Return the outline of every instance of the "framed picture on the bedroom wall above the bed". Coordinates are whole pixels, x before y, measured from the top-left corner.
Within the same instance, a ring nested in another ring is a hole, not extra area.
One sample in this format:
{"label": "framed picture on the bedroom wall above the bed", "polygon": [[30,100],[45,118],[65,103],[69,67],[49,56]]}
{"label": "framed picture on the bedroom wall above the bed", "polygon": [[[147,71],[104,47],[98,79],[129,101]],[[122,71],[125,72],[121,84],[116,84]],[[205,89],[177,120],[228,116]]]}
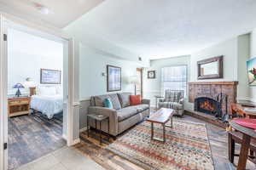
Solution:
{"label": "framed picture on the bedroom wall above the bed", "polygon": [[40,83],[41,84],[61,84],[61,71],[41,69]]}

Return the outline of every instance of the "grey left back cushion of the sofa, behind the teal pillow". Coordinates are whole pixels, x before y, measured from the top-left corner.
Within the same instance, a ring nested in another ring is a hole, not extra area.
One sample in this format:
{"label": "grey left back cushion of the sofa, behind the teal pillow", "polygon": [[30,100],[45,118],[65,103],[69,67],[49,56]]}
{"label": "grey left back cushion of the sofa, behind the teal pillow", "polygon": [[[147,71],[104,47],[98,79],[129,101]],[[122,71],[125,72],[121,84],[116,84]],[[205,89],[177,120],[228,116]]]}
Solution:
{"label": "grey left back cushion of the sofa, behind the teal pillow", "polygon": [[121,105],[120,105],[120,102],[119,102],[119,97],[118,97],[117,94],[106,94],[106,95],[95,96],[94,97],[95,105],[100,106],[100,107],[104,107],[103,101],[105,99],[111,99],[113,109],[115,109],[115,110],[121,109]]}

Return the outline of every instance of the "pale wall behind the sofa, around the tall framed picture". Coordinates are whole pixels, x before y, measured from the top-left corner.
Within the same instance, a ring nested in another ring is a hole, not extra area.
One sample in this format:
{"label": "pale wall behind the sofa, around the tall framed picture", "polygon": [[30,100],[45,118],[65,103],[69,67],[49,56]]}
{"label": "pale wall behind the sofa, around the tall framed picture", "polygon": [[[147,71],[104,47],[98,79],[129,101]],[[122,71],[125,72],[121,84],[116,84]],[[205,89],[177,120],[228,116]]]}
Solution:
{"label": "pale wall behind the sofa, around the tall framed picture", "polygon": [[[117,59],[103,54],[95,48],[90,48],[79,43],[79,100],[81,102],[79,128],[86,126],[87,108],[90,105],[90,97],[93,95],[108,94],[107,92],[107,65],[121,67],[122,90],[120,92],[134,92],[134,86],[127,82],[127,78],[136,75],[137,68],[141,67],[137,62],[125,59]],[[105,73],[105,76],[102,76]]]}

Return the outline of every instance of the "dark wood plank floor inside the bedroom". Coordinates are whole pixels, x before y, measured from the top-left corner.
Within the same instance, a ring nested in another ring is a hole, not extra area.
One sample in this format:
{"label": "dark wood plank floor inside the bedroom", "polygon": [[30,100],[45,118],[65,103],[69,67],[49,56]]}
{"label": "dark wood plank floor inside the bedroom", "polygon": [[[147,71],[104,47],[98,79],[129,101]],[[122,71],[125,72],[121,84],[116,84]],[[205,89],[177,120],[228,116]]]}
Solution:
{"label": "dark wood plank floor inside the bedroom", "polygon": [[66,144],[62,139],[62,114],[49,120],[40,113],[9,118],[9,169],[57,150]]}

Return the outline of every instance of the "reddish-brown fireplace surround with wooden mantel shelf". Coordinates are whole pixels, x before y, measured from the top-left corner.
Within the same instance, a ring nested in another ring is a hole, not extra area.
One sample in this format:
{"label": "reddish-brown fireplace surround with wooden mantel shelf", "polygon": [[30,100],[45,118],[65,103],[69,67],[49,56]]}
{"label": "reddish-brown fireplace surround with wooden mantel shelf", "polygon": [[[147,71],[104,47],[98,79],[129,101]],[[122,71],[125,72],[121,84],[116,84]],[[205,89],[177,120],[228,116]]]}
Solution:
{"label": "reddish-brown fireplace surround with wooden mantel shelf", "polygon": [[195,98],[215,98],[218,94],[228,95],[228,111],[230,104],[236,102],[236,88],[238,82],[189,82],[189,102],[194,103]]}

